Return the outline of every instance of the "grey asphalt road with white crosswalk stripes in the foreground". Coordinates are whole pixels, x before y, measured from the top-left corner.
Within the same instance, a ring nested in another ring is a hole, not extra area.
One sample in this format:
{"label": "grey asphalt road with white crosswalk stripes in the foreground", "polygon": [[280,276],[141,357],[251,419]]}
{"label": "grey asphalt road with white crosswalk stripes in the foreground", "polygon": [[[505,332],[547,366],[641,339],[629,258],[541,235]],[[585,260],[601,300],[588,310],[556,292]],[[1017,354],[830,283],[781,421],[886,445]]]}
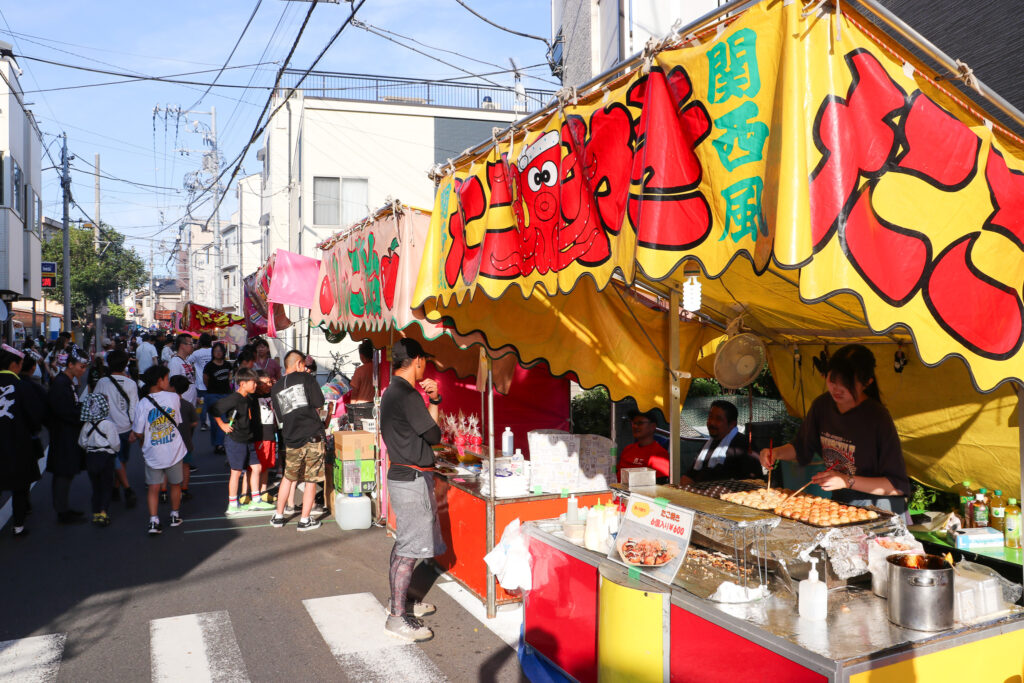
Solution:
{"label": "grey asphalt road with white crosswalk stripes in the foreground", "polygon": [[[33,657],[39,665],[46,656],[59,681],[174,679],[173,667],[164,665],[178,647],[183,654],[175,666],[189,660],[194,624],[205,625],[214,669],[231,680],[525,680],[515,651],[422,563],[414,591],[437,605],[425,618],[434,639],[402,645],[382,637],[384,611],[374,599],[387,604],[392,542],[384,530],[342,531],[330,517],[307,532],[296,530],[297,519],[280,529],[266,514],[228,519],[224,459],[213,455],[207,432],[197,432],[197,446],[200,469],[190,486],[195,499],[182,503],[185,523],[169,528],[169,506],[162,505],[160,537],[145,532],[137,446],[129,476],[139,505],[126,510],[114,503],[105,528],[58,525],[44,475],[32,492],[30,536],[14,539],[9,522],[0,533],[0,681],[7,680],[5,666],[12,680],[24,680]],[[88,512],[89,495],[83,473],[73,507]],[[181,618],[162,621],[169,617]],[[62,650],[26,653],[29,643],[50,642],[22,640],[39,636],[56,636],[51,640],[62,642]],[[211,647],[214,641],[220,644]]]}

